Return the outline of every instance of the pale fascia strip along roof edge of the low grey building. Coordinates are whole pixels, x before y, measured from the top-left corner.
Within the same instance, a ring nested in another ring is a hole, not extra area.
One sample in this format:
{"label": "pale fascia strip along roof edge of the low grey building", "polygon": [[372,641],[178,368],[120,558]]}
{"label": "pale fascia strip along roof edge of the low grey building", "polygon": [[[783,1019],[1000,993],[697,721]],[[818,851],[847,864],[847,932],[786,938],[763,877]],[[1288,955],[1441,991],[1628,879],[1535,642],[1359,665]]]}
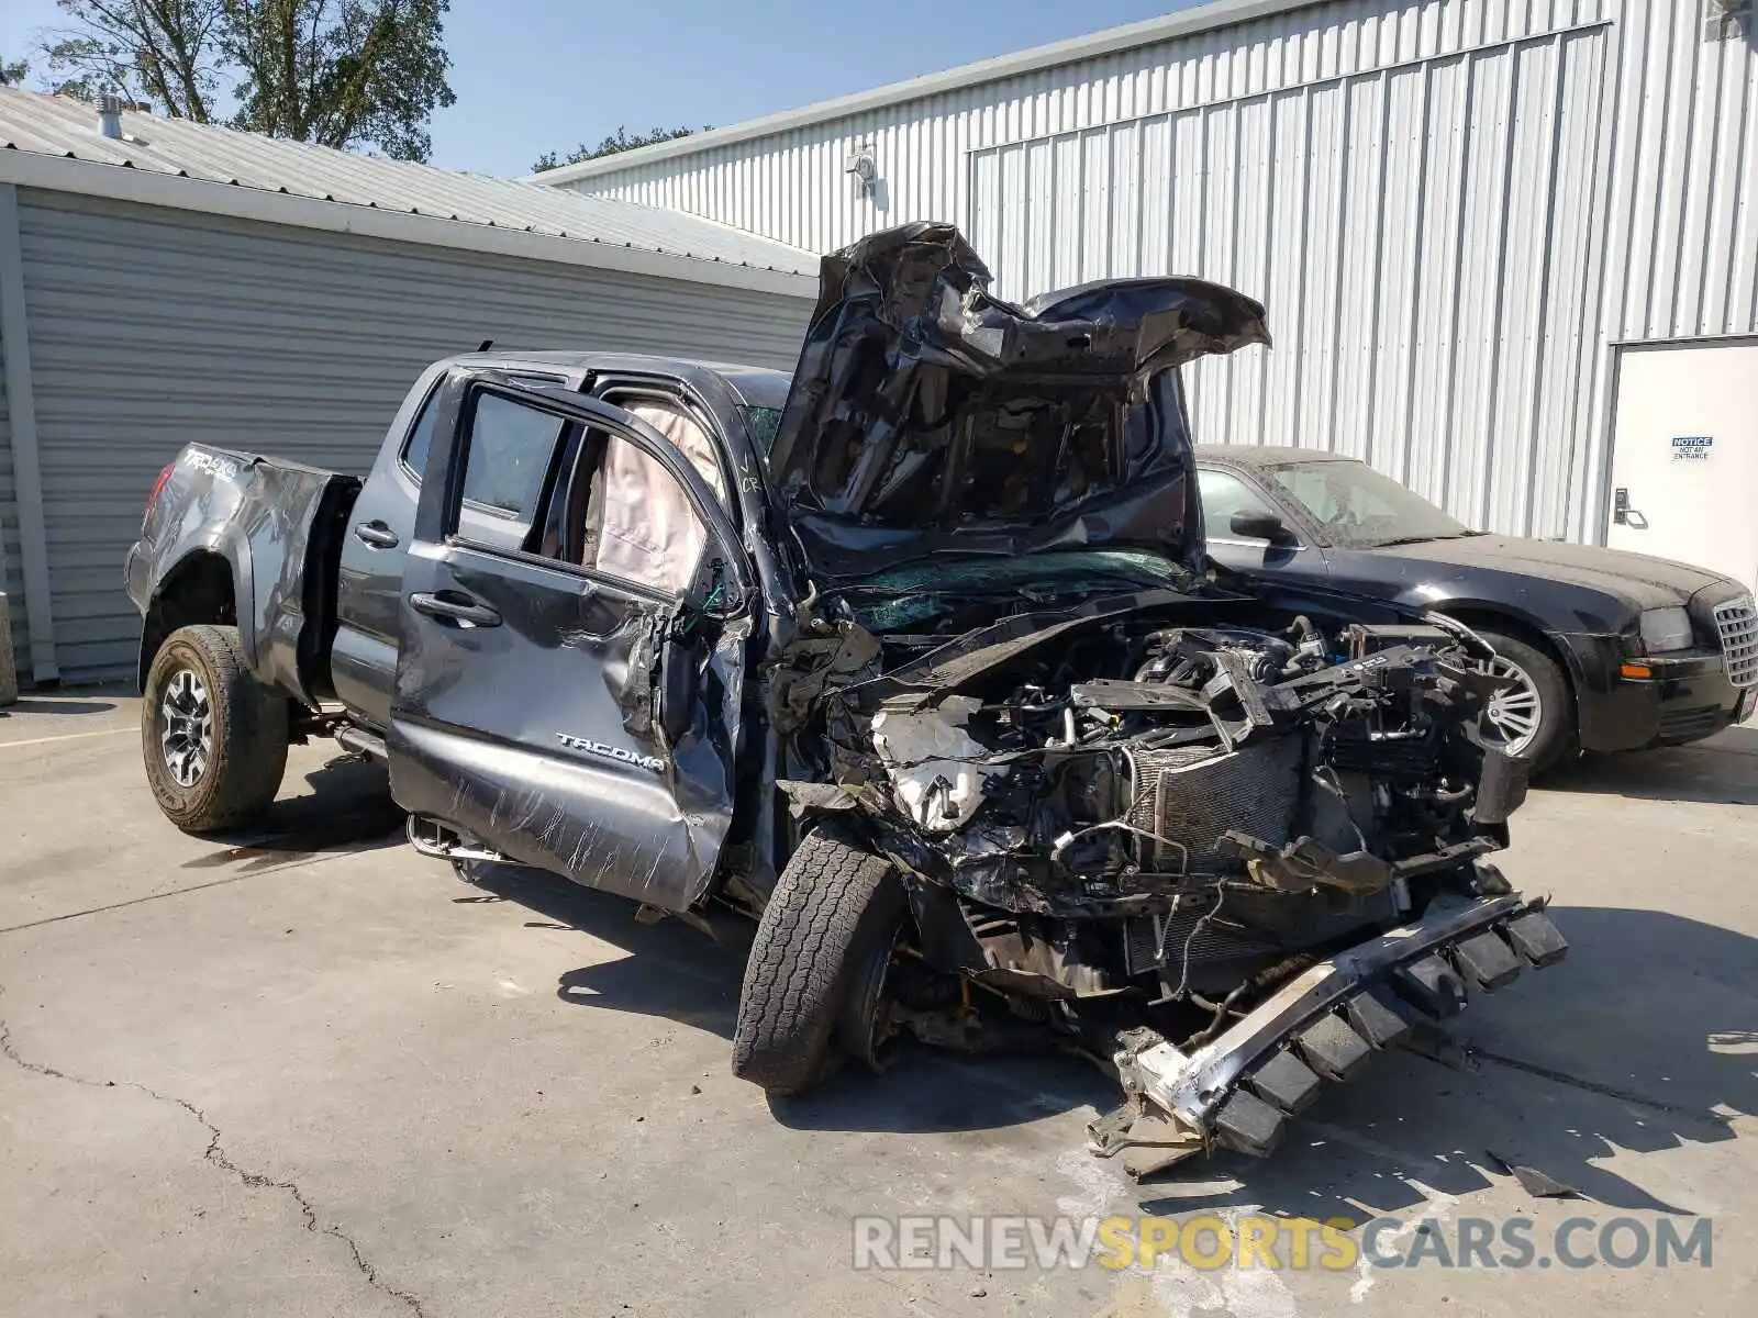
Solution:
{"label": "pale fascia strip along roof edge of the low grey building", "polygon": [[357,234],[434,248],[524,257],[557,265],[587,265],[786,297],[817,297],[817,279],[809,274],[679,257],[617,243],[534,234],[466,220],[441,220],[353,202],[320,200],[241,183],[209,183],[179,174],[160,174],[18,148],[0,149],[0,183],[107,197],[176,211],[225,214],[236,220],[258,220],[331,234]]}

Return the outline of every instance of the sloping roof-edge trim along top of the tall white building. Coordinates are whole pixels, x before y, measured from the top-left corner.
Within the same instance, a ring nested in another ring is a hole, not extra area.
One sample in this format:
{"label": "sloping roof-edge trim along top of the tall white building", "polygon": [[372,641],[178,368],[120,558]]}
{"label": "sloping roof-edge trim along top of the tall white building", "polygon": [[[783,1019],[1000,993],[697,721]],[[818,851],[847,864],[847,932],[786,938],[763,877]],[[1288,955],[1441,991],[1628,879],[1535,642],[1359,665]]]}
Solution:
{"label": "sloping roof-edge trim along top of the tall white building", "polygon": [[1000,54],[993,60],[977,60],[976,63],[958,65],[956,69],[946,69],[939,74],[925,74],[923,77],[912,77],[904,83],[888,83],[886,86],[872,88],[870,91],[856,91],[847,97],[835,97],[833,100],[819,100],[812,105],[802,105],[800,109],[765,114],[756,119],[745,119],[744,123],[731,123],[724,128],[708,128],[700,134],[691,134],[689,137],[677,137],[668,142],[656,142],[633,151],[619,151],[610,156],[598,156],[596,160],[582,160],[578,165],[545,169],[538,174],[522,176],[522,181],[541,183],[552,188],[564,186],[578,179],[599,177],[603,174],[615,174],[626,169],[640,169],[642,165],[654,165],[661,160],[672,160],[675,156],[712,151],[717,146],[747,142],[756,137],[772,137],[791,128],[805,128],[814,123],[842,119],[865,111],[881,109],[884,105],[897,105],[905,100],[921,100],[942,91],[956,91],[981,83],[997,83],[1006,77],[1032,74],[1039,69],[1079,63],[1081,60],[1092,60],[1099,54],[1111,54],[1113,51],[1134,49],[1137,46],[1153,46],[1178,37],[1192,37],[1199,32],[1211,32],[1236,23],[1250,23],[1252,19],[1283,14],[1294,9],[1310,9],[1318,4],[1324,4],[1324,0],[1211,0],[1211,4],[1197,5],[1195,9],[1181,9],[1176,14],[1162,14],[1160,18],[1150,18],[1139,23],[1125,23],[1123,26],[1106,28],[1104,32],[1093,32],[1086,37],[1071,37],[1069,40],[1051,42],[1048,46],[1034,46],[1028,51]]}

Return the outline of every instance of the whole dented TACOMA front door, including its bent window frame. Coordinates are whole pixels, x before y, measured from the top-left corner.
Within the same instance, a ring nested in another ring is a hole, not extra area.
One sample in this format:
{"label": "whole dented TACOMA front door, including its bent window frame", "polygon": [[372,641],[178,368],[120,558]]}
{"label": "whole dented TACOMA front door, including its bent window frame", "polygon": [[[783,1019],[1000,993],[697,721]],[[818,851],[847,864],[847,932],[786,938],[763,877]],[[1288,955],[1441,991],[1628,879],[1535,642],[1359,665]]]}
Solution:
{"label": "whole dented TACOMA front door, including its bent window frame", "polygon": [[[721,571],[707,576],[728,597],[747,592],[747,566],[726,548],[737,541],[700,476],[617,408],[457,373],[443,448],[459,446],[464,395],[482,383],[650,453],[708,525]],[[587,448],[564,443],[557,462]],[[601,571],[448,534],[454,460],[429,457],[404,568],[392,794],[515,861],[687,909],[731,824],[747,617],[708,619]],[[666,708],[666,692],[684,708]]]}

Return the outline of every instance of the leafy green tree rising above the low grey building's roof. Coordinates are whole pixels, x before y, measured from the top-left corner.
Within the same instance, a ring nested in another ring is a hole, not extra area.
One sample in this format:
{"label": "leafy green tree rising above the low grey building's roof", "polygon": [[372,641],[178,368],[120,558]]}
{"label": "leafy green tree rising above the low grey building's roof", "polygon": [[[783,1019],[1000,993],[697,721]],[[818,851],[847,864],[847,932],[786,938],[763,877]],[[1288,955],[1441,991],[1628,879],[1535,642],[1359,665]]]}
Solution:
{"label": "leafy green tree rising above the low grey building's roof", "polygon": [[199,123],[427,160],[450,0],[56,0],[63,91]]}

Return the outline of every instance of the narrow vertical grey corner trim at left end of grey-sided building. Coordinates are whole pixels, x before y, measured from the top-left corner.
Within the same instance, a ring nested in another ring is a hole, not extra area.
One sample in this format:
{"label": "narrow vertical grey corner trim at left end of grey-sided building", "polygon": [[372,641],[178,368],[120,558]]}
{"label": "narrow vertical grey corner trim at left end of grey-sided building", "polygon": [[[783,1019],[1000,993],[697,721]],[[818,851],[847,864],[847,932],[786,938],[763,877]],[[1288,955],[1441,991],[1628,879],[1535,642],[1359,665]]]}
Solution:
{"label": "narrow vertical grey corner trim at left end of grey-sided building", "polygon": [[49,538],[42,520],[42,466],[37,460],[37,404],[30,383],[25,318],[25,253],[18,234],[18,188],[0,183],[0,353],[12,432],[12,487],[18,490],[19,568],[30,622],[30,673],[39,685],[60,682],[54,617],[49,610]]}

